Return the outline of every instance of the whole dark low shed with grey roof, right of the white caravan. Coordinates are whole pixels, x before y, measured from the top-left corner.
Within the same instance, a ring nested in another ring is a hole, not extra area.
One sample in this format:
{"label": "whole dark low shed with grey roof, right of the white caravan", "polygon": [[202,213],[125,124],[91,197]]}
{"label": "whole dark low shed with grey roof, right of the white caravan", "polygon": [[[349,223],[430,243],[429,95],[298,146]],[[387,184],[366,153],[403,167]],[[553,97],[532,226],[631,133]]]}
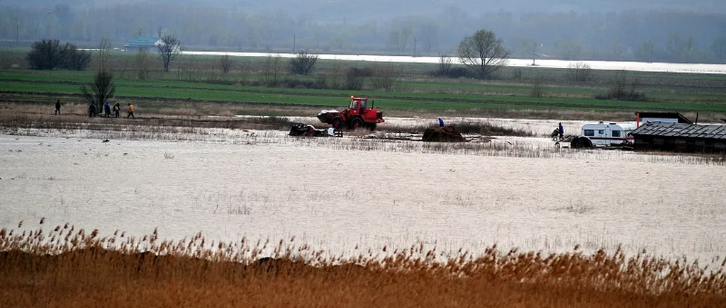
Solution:
{"label": "whole dark low shed with grey roof, right of the white caravan", "polygon": [[726,125],[650,122],[630,135],[636,151],[726,152]]}

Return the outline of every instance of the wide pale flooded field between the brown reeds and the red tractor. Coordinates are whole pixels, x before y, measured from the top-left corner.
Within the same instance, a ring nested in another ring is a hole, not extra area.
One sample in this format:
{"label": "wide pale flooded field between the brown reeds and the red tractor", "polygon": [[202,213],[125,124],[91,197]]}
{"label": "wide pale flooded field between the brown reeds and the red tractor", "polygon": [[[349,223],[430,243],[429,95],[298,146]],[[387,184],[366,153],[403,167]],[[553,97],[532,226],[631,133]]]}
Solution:
{"label": "wide pale flooded field between the brown reeds and the red tractor", "polygon": [[295,237],[328,254],[579,244],[710,262],[726,251],[725,166],[553,149],[545,138],[432,145],[280,131],[22,130],[0,135],[0,165],[1,228],[38,228],[45,217],[47,228],[70,222],[102,234]]}

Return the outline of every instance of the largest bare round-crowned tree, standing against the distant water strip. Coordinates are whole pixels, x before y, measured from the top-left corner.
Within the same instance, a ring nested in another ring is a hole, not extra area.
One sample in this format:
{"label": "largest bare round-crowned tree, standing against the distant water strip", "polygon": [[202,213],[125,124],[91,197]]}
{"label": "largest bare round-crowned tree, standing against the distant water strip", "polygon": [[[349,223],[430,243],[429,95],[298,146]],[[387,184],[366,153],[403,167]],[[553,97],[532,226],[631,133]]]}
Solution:
{"label": "largest bare round-crowned tree, standing against the distant water strip", "polygon": [[473,36],[465,37],[459,43],[457,53],[461,62],[482,79],[507,65],[509,56],[502,40],[487,30],[478,30]]}

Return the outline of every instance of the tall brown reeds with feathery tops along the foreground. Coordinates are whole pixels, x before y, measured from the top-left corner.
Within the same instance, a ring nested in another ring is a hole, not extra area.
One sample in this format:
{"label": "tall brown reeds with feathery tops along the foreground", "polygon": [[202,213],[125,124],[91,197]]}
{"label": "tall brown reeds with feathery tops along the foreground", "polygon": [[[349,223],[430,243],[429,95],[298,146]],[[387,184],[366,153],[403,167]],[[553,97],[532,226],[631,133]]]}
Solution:
{"label": "tall brown reeds with feathery tops along the foreground", "polygon": [[[42,223],[42,220],[41,220]],[[295,239],[0,230],[3,307],[723,307],[726,275],[620,250],[422,246],[325,257]],[[724,264],[721,265],[723,267]]]}

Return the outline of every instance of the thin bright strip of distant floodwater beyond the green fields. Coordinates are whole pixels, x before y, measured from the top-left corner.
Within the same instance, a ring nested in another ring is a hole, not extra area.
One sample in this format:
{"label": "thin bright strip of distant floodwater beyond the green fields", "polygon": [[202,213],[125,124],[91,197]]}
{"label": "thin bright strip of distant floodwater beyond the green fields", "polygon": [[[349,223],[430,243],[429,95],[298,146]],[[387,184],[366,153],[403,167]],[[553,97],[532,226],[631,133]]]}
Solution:
{"label": "thin bright strip of distant floodwater beyond the green fields", "polygon": [[[224,55],[231,57],[282,57],[292,58],[295,54],[261,53],[261,52],[221,52],[221,51],[184,51],[184,54]],[[364,54],[319,54],[319,59],[346,60],[364,62],[401,62],[401,63],[439,63],[439,57],[411,56],[378,56]],[[452,62],[460,63],[457,57]],[[632,61],[571,61],[558,59],[537,59],[537,67],[567,68],[574,63],[585,63],[594,70],[635,70],[641,72],[685,72],[698,74],[726,74],[726,64],[707,63],[667,63],[667,62],[632,62]],[[532,59],[509,59],[508,66],[529,67]]]}

